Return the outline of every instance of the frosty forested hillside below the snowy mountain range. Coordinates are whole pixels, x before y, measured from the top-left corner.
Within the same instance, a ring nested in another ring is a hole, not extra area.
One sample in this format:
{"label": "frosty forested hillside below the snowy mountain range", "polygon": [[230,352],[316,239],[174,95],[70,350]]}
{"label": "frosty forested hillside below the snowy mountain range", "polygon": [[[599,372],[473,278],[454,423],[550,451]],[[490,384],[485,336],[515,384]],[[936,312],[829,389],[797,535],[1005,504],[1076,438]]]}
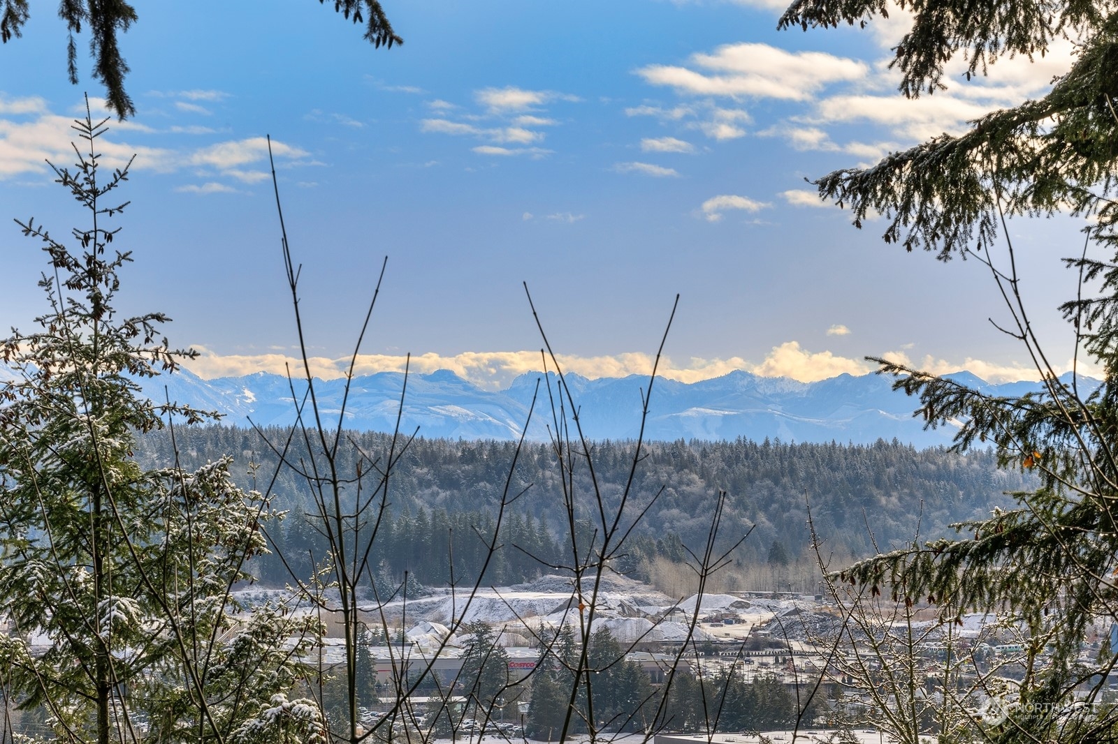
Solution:
{"label": "frosty forested hillside below the snowy mountain range", "polygon": [[[269,429],[273,442],[287,438],[284,429]],[[186,465],[237,455],[235,473],[246,485],[265,489],[275,474],[276,457],[260,436],[236,427],[181,427],[176,431],[180,458]],[[390,437],[351,432],[344,467],[356,468],[356,447],[385,461]],[[141,458],[171,461],[168,432],[141,438]],[[398,579],[405,570],[420,583],[449,580],[446,560],[453,549],[458,579],[468,580],[483,560],[479,532],[492,534],[495,508],[513,461],[515,445],[508,441],[451,441],[416,439],[408,445],[392,471],[388,518],[378,534],[375,565]],[[300,442],[293,442],[292,460],[300,459]],[[607,508],[615,505],[632,465],[629,442],[595,445],[595,470],[604,484]],[[249,464],[255,462],[255,481]],[[922,537],[945,534],[953,522],[988,516],[995,505],[1007,506],[1005,492],[1026,485],[1020,473],[996,467],[988,451],[966,455],[942,448],[918,450],[879,440],[873,445],[786,443],[745,439],[724,442],[653,442],[641,462],[636,499],[626,511],[635,518],[650,500],[641,525],[634,531],[618,570],[647,579],[652,562],[686,559],[683,545],[697,546],[705,538],[710,514],[719,490],[729,495],[722,522],[724,544],[737,541],[756,525],[736,554],[738,565],[795,561],[807,546],[807,503],[827,550],[839,560],[868,555],[871,536],[884,549],[909,542],[920,530]],[[589,474],[576,471],[579,531],[594,533]],[[559,468],[548,445],[525,445],[512,477],[512,493],[524,490],[506,515],[502,542],[505,549],[486,574],[489,583],[512,583],[542,571],[539,561],[570,564],[565,553],[569,540],[562,509]],[[275,533],[293,565],[307,570],[307,549],[316,544],[313,519],[303,515],[310,504],[306,484],[284,469],[272,486],[274,503],[291,509]],[[659,496],[657,496],[659,494]],[[476,528],[476,531],[475,531]],[[584,542],[585,544],[585,542]],[[521,550],[512,549],[518,546]],[[323,554],[321,550],[316,554]],[[529,555],[531,554],[531,555]],[[265,579],[282,580],[283,566],[265,562]]]}

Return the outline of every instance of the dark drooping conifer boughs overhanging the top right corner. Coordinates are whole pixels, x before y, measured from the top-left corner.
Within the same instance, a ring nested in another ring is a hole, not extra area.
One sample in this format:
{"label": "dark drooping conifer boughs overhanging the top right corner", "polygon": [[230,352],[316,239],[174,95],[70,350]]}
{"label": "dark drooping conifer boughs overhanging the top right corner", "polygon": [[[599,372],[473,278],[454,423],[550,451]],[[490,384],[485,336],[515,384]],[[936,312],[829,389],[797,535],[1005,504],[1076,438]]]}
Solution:
{"label": "dark drooping conifer boughs overhanging the top right corner", "polygon": [[[884,0],[796,0],[780,28],[865,26],[884,18]],[[1077,45],[1076,61],[1036,101],[993,112],[966,133],[941,134],[871,168],[834,171],[819,195],[847,207],[854,225],[872,214],[888,221],[887,242],[940,258],[988,248],[1001,213],[1093,216],[1093,236],[1118,223],[1118,12],[1095,1],[899,0],[912,26],[894,47],[901,92],[911,98],[945,87],[958,57],[968,78],[998,58],[1043,57],[1054,41]],[[963,85],[963,82],[958,82]]]}

